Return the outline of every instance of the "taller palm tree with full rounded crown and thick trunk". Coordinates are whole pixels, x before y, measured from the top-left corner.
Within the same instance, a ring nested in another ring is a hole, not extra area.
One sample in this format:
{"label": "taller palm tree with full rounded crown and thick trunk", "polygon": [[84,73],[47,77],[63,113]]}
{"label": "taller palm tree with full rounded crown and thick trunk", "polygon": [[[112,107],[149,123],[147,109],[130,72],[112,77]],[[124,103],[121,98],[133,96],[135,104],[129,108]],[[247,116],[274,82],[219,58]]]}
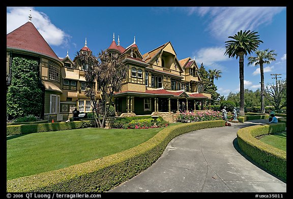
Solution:
{"label": "taller palm tree with full rounded crown and thick trunk", "polygon": [[226,51],[224,55],[229,57],[239,57],[239,79],[240,79],[240,115],[244,115],[244,55],[250,54],[255,51],[259,43],[263,43],[259,40],[259,36],[255,31],[240,30],[234,36],[229,36],[233,40],[226,41]]}

